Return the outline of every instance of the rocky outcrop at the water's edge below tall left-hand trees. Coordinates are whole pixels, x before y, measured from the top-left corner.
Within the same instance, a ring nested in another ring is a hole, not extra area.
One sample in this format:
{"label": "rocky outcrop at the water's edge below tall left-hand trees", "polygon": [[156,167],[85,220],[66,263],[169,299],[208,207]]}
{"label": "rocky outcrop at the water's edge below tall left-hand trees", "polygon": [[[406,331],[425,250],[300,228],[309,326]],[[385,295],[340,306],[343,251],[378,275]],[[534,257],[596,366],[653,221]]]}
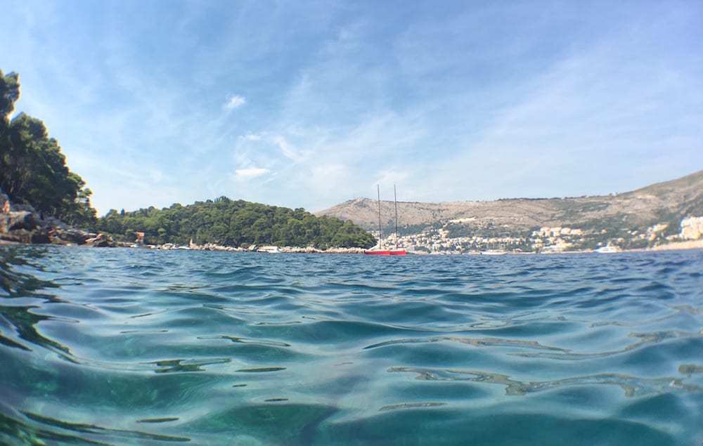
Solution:
{"label": "rocky outcrop at the water's edge below tall left-hand trees", "polygon": [[27,204],[12,204],[0,190],[0,242],[27,244],[77,244],[91,247],[114,247],[112,237],[71,228],[62,221],[41,218]]}

